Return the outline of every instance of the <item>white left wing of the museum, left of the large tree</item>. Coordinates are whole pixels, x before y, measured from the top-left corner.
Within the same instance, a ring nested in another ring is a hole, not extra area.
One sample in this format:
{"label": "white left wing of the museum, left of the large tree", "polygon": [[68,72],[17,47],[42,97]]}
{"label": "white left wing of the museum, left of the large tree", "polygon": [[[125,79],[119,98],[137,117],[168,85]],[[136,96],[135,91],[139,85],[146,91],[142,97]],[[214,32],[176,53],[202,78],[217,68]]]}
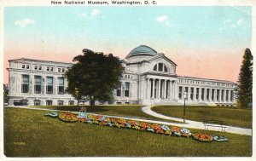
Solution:
{"label": "white left wing of the museum, left of the large tree", "polygon": [[27,100],[32,106],[73,105],[65,93],[64,72],[71,63],[46,60],[9,60],[9,105]]}

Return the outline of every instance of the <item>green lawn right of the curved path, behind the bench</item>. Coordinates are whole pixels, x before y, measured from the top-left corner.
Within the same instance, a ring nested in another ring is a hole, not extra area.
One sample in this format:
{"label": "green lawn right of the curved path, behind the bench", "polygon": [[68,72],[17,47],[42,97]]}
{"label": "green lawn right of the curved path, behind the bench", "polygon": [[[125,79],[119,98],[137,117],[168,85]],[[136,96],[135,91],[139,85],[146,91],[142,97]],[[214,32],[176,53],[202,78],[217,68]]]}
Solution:
{"label": "green lawn right of the curved path, behind the bench", "polygon": [[[154,106],[154,112],[183,118],[183,106]],[[218,106],[186,106],[186,118],[195,121],[221,120],[224,124],[252,128],[252,110]]]}

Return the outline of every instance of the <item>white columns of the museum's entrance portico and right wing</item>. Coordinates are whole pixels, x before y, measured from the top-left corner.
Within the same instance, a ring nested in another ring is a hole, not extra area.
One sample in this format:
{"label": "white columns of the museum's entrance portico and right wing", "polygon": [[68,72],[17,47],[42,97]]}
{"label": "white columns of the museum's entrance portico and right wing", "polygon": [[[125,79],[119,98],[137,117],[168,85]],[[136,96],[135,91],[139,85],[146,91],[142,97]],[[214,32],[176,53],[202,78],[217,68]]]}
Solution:
{"label": "white columns of the museum's entrance portico and right wing", "polygon": [[184,86],[177,84],[176,80],[165,78],[146,78],[146,99],[184,100],[198,102],[234,102],[234,89],[223,89],[200,86]]}

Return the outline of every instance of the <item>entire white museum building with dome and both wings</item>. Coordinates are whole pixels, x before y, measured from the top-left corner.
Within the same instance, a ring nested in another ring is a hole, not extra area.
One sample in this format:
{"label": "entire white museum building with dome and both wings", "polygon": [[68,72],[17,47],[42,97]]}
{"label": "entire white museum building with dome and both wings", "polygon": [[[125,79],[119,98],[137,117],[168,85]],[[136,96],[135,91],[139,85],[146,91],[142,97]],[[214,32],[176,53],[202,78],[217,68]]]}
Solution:
{"label": "entire white museum building with dome and both wings", "polygon": [[[177,65],[148,46],[132,49],[122,60],[125,73],[119,89],[113,91],[115,104],[232,105],[236,83],[217,79],[181,77]],[[73,105],[65,94],[63,74],[71,63],[18,59],[9,60],[9,104],[28,100],[29,105]]]}

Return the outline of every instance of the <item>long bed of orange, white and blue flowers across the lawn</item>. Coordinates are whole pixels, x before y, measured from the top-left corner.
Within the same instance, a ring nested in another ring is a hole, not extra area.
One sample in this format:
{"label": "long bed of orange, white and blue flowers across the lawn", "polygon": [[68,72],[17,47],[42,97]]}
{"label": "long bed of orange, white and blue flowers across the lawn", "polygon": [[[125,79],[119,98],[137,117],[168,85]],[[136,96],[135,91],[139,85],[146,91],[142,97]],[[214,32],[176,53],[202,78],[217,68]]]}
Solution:
{"label": "long bed of orange, white and blue flowers across the lawn", "polygon": [[189,129],[179,128],[177,126],[168,126],[166,124],[150,124],[146,122],[140,122],[124,118],[109,118],[102,115],[87,114],[85,112],[79,112],[74,114],[72,112],[61,112],[59,118],[65,122],[82,122],[89,124],[99,124],[102,126],[111,126],[118,128],[137,129],[141,131],[147,131],[155,134],[173,135],[178,137],[193,137],[196,141],[211,142],[211,141],[227,141],[227,138],[223,136],[214,136],[196,133],[192,134]]}

